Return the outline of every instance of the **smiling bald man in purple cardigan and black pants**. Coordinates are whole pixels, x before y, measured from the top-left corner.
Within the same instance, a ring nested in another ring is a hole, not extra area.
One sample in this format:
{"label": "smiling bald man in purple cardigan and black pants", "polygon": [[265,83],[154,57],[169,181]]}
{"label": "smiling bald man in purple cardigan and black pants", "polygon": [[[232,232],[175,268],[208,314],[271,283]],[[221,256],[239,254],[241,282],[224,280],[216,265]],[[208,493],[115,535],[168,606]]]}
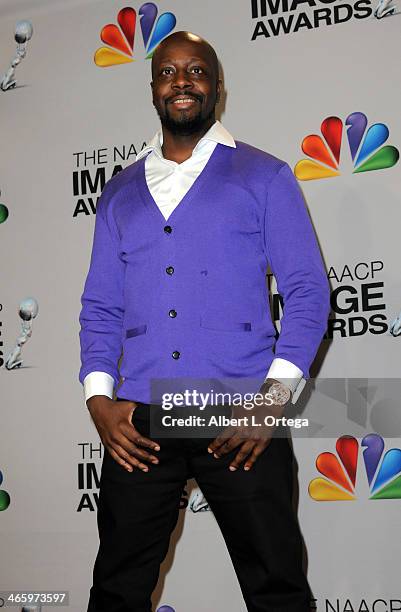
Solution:
{"label": "smiling bald man in purple cardigan and black pants", "polygon": [[[298,184],[286,162],[215,120],[221,86],[209,43],[165,38],[152,58],[161,130],[97,206],[80,314],[79,379],[105,448],[90,612],[151,611],[191,477],[247,610],[309,610],[288,440],[242,426],[198,439],[149,433],[156,378],[249,377],[281,415],[326,329],[328,281]],[[268,264],[284,300],[275,352]]]}

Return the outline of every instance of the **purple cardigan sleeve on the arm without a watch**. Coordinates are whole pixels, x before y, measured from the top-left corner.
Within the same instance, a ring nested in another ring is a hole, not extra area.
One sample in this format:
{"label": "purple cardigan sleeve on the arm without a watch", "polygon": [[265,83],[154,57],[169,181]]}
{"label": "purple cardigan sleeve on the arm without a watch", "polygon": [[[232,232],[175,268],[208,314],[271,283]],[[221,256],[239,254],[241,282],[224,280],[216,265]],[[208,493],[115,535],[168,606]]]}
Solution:
{"label": "purple cardigan sleeve on the arm without a watch", "polygon": [[125,264],[119,257],[119,235],[111,209],[109,181],[98,200],[89,271],[81,296],[79,380],[106,372],[119,382],[122,351]]}

